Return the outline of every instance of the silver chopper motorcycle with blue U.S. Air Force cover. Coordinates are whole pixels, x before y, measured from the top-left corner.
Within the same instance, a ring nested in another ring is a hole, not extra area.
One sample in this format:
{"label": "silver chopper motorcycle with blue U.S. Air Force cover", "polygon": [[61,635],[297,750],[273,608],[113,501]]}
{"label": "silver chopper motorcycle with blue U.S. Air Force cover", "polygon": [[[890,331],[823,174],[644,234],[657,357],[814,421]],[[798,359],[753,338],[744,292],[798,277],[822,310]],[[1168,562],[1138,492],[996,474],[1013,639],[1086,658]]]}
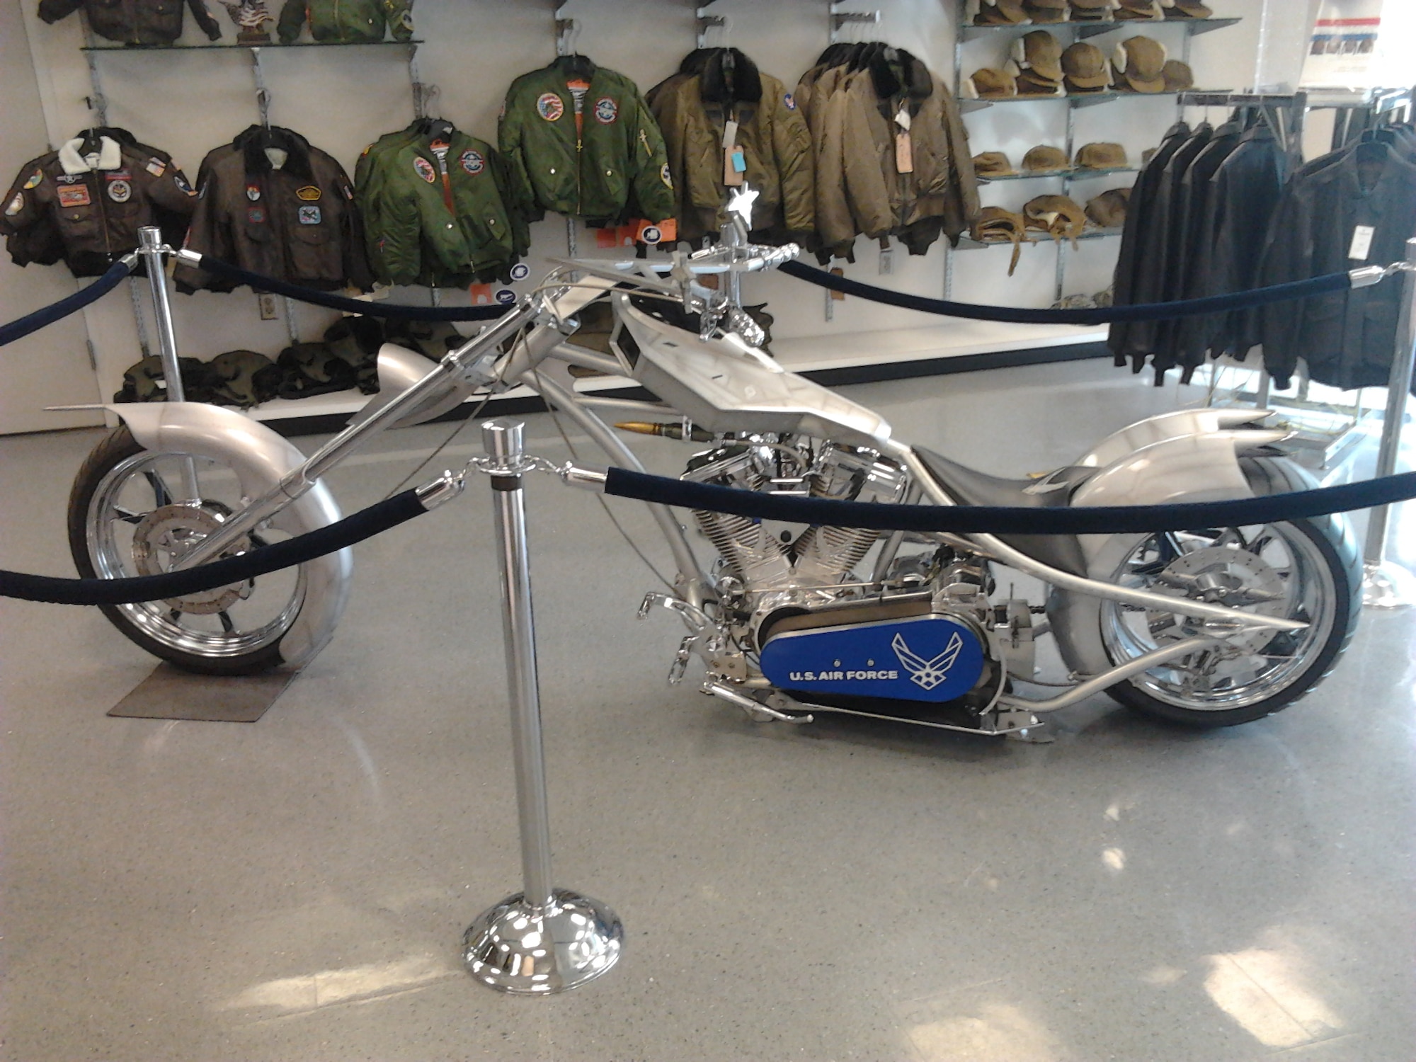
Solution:
{"label": "silver chopper motorcycle with blue U.S. Air Force cover", "polygon": [[[750,208],[750,204],[749,204]],[[792,497],[936,506],[1140,506],[1257,497],[1314,486],[1284,456],[1264,411],[1187,409],[1103,439],[1055,472],[1007,480],[896,439],[874,411],[784,371],[741,309],[748,272],[796,256],[752,246],[739,210],[725,242],[667,263],[564,261],[530,296],[429,368],[395,346],[381,389],[306,457],[259,422],[193,402],[106,406],[122,426],[79,470],[69,545],[84,576],[191,568],[340,518],[321,476],[378,432],[430,421],[477,394],[524,384],[612,463],[643,464],[606,421],[657,421],[700,440],[683,477]],[[178,258],[200,262],[181,251]],[[705,275],[726,280],[705,286]],[[576,343],[579,314],[607,303],[606,350]],[[572,368],[646,388],[657,401],[578,391]],[[640,423],[643,430],[646,425]],[[547,466],[545,462],[537,462]],[[528,466],[530,467],[530,466]],[[598,489],[603,472],[554,469]],[[429,501],[462,477],[421,489]],[[673,554],[673,590],[650,593],[687,634],[701,690],[755,719],[844,712],[1041,736],[1046,712],[1106,691],[1163,719],[1226,726],[1311,690],[1352,637],[1359,552],[1344,515],[1256,527],[1112,535],[902,534],[773,527],[722,513],[691,520],[716,556],[704,566],[674,510],[649,506]],[[1000,593],[1003,569],[1042,583]],[[112,623],[177,667],[251,674],[309,661],[333,636],[348,551],[187,598],[105,606]],[[1042,680],[1051,636],[1065,680]]]}

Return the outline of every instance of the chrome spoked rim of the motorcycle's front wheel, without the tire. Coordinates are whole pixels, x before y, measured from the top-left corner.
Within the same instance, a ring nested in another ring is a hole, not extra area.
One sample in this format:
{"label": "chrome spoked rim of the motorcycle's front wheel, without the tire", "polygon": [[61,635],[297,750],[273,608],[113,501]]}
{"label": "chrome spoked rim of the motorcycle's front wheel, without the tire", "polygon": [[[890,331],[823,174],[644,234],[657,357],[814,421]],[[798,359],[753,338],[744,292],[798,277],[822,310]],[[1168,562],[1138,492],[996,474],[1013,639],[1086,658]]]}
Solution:
{"label": "chrome spoked rim of the motorcycle's front wheel, without the tire", "polygon": [[[181,501],[185,462],[195,466],[200,507]],[[235,473],[211,459],[147,450],[133,455],[103,476],[89,501],[86,541],[93,571],[101,579],[167,571],[184,545],[200,541],[241,501]],[[160,528],[160,538],[153,528]],[[275,531],[251,535],[234,552],[279,537]],[[200,657],[239,657],[280,640],[304,603],[304,573],[295,568],[193,595],[190,600],[115,607],[167,649]]]}

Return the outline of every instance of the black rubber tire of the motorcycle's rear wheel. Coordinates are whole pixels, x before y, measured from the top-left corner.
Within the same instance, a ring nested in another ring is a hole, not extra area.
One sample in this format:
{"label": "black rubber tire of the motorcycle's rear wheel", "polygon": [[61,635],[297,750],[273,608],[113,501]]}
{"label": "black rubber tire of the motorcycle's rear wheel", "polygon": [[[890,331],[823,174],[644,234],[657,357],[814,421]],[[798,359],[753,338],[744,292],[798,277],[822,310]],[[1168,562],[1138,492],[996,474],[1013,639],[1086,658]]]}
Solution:
{"label": "black rubber tire of the motorcycle's rear wheel", "polygon": [[[1286,462],[1253,460],[1245,462],[1245,472],[1255,486],[1256,494],[1280,493],[1289,490],[1303,490],[1311,484],[1306,476]],[[1223,528],[1222,532],[1235,532],[1238,528]],[[1107,692],[1120,704],[1134,708],[1154,718],[1167,722],[1184,724],[1198,728],[1236,726],[1252,722],[1266,715],[1289,707],[1304,694],[1321,683],[1335,667],[1342,651],[1351,643],[1357,632],[1358,619],[1362,612],[1362,559],[1357,544],[1349,532],[1347,520],[1342,515],[1318,517],[1314,520],[1297,520],[1283,524],[1272,524],[1260,528],[1259,532],[1250,530],[1250,535],[1257,541],[1260,534],[1273,534],[1276,541],[1286,541],[1290,551],[1308,552],[1303,544],[1311,548],[1310,564],[1321,562],[1327,571],[1328,581],[1323,583],[1323,592],[1331,593],[1328,609],[1330,620],[1324,620],[1327,630],[1314,636],[1311,646],[1303,647],[1301,663],[1297,654],[1290,654],[1293,660],[1291,673],[1283,677],[1272,695],[1256,697],[1235,708],[1188,708],[1175,704],[1174,700],[1157,697],[1147,690],[1154,683],[1157,671],[1167,670],[1167,666],[1153,668],[1141,675],[1113,685]],[[1242,532],[1240,532],[1242,534]],[[1147,541],[1155,541],[1147,539]],[[1290,573],[1291,578],[1291,573]],[[1114,606],[1103,606],[1103,624],[1107,616],[1116,616]],[[1308,617],[1297,613],[1296,617]],[[1267,637],[1267,636],[1266,636]],[[1259,651],[1283,644],[1284,634],[1274,634],[1272,640]],[[1291,636],[1298,637],[1298,636]],[[1104,641],[1104,636],[1103,636]],[[1291,643],[1289,643],[1291,644]],[[1107,647],[1107,654],[1113,663],[1123,663],[1117,654]],[[1281,658],[1274,654],[1273,658]],[[1274,666],[1276,668],[1280,666]],[[1157,687],[1151,687],[1157,688]],[[1240,700],[1240,698],[1236,698]]]}

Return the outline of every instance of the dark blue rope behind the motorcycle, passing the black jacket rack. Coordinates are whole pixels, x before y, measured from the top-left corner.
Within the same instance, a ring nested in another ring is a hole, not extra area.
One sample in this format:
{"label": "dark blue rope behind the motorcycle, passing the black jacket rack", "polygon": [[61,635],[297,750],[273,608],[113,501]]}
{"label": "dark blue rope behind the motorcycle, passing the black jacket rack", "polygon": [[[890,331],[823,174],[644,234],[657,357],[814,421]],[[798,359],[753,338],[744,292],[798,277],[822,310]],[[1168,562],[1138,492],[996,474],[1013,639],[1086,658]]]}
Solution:
{"label": "dark blue rope behind the motorcycle, passing the black jacket rack", "polygon": [[1171,317],[1192,317],[1202,313],[1225,313],[1250,306],[1267,306],[1291,299],[1307,299],[1314,295],[1341,292],[1352,286],[1347,273],[1327,273],[1308,280],[1293,280],[1273,287],[1256,287],[1252,292],[1211,295],[1204,299],[1185,299],[1172,303],[1138,303],[1136,306],[1100,306],[1093,310],[1021,310],[1012,306],[977,306],[974,303],[953,303],[944,299],[926,299],[920,295],[905,295],[875,287],[860,280],[847,280],[824,269],[814,269],[801,262],[787,262],[780,266],[787,276],[830,287],[833,292],[854,295],[860,299],[899,306],[905,310],[937,313],[944,317],[967,317],[976,321],[1008,321],[1011,324],[1109,324],[1112,321],[1158,321]]}

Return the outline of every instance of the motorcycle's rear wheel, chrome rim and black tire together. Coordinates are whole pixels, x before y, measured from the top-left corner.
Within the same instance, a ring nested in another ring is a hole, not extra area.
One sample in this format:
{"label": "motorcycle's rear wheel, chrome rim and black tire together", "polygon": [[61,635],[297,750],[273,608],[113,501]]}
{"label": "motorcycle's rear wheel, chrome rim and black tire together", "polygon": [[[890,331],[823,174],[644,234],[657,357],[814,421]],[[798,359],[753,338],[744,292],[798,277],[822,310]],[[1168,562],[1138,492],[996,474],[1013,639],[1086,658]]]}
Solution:
{"label": "motorcycle's rear wheel, chrome rim and black tire together", "polygon": [[[1112,581],[1308,624],[1231,634],[1107,691],[1130,708],[1191,726],[1250,722],[1303,697],[1332,670],[1361,610],[1361,565],[1331,517],[1150,535]],[[1116,602],[1102,603],[1100,627],[1113,664],[1199,630],[1182,606]]]}

